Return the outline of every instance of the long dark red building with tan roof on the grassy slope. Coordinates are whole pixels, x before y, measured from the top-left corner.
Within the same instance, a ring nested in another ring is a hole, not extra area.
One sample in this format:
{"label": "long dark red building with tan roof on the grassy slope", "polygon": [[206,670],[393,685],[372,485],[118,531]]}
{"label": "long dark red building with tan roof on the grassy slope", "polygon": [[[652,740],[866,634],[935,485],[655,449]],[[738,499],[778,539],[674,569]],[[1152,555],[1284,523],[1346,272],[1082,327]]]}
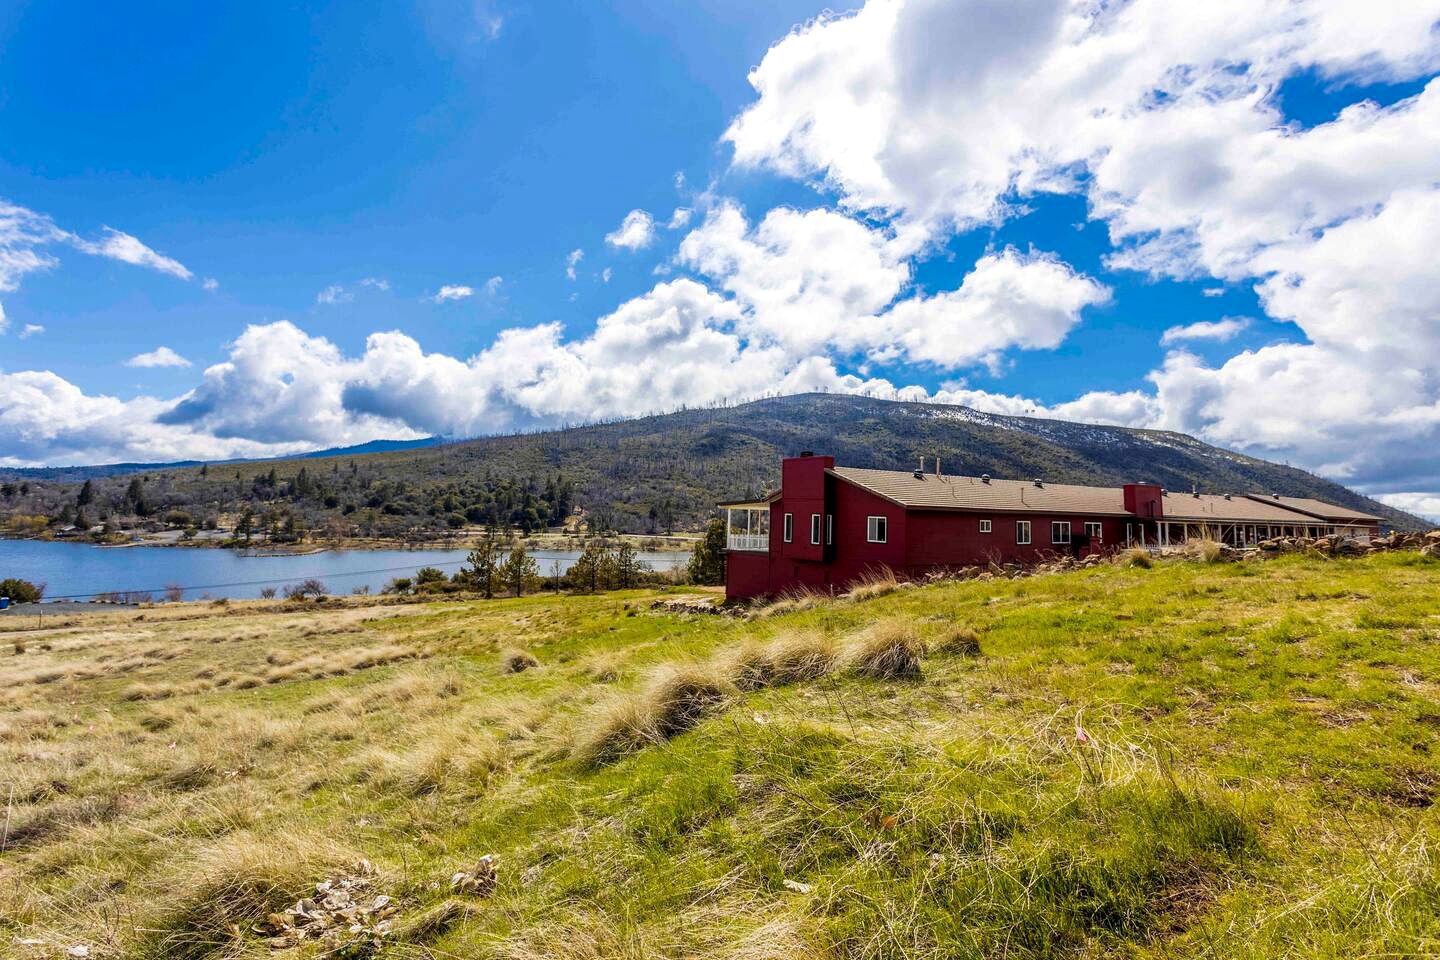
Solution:
{"label": "long dark red building with tan roof on the grassy slope", "polygon": [[780,489],[765,499],[720,507],[729,599],[844,590],[881,570],[914,577],[1191,537],[1231,545],[1331,533],[1364,540],[1380,528],[1378,517],[1312,499],[871,471],[812,453],[786,458]]}

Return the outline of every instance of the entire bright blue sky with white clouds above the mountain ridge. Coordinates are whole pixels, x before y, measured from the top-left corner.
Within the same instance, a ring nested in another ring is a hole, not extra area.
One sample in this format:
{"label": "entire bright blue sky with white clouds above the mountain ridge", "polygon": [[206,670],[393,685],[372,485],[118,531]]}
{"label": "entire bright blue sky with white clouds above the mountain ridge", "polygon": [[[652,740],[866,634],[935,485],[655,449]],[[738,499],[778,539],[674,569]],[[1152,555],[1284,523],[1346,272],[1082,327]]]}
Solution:
{"label": "entire bright blue sky with white clouds above the mountain ridge", "polygon": [[1430,276],[1333,266],[1431,226],[1440,13],[1224,6],[9,4],[0,462],[835,389],[1440,511]]}

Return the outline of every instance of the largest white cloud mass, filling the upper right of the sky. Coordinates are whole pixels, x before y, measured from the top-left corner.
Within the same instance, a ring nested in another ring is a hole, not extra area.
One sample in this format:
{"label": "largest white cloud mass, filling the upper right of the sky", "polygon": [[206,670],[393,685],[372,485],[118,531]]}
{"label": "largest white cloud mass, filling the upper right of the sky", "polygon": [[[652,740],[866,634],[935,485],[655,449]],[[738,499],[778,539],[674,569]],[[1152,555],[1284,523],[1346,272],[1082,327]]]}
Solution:
{"label": "largest white cloud mass, filling the upper right of the sky", "polygon": [[[1437,20],[1437,0],[871,0],[776,43],[726,138],[737,164],[822,181],[903,248],[1083,194],[1112,269],[1254,284],[1309,343],[1218,367],[1171,354],[1153,393],[1051,412],[1187,429],[1375,489],[1433,486],[1440,81],[1310,128],[1284,121],[1277,94],[1302,71],[1427,76]],[[1168,341],[1200,332],[1231,328]]]}

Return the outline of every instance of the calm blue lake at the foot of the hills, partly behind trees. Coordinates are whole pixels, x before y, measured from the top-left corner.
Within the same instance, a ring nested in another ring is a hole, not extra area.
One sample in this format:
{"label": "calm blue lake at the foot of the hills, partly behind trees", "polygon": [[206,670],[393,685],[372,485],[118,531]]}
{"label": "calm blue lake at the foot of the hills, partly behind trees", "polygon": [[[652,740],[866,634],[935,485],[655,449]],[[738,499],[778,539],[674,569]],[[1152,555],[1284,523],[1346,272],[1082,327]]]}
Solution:
{"label": "calm blue lake at the foot of the hills, partly behind trees", "polygon": [[[163,599],[170,584],[184,587],[186,600],[258,597],[265,587],[284,589],[315,577],[330,593],[370,587],[379,593],[395,577],[420,567],[455,573],[467,550],[325,550],[305,556],[248,556],[210,547],[96,547],[42,540],[0,540],[0,580],[20,577],[45,584],[45,599],[88,600],[98,593],[151,593]],[[530,553],[541,576],[570,569],[576,550]],[[683,567],[690,554],[639,553],[652,570]]]}

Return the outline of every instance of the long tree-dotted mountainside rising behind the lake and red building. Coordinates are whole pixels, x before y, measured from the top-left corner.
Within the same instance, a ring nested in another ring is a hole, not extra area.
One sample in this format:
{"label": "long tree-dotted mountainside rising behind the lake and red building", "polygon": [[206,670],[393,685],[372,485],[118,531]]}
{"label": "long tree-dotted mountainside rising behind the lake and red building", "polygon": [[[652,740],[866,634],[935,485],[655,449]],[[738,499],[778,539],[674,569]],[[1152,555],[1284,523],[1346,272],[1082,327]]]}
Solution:
{"label": "long tree-dotted mountainside rising behind the lake and red building", "polygon": [[415,540],[477,525],[553,527],[579,507],[592,531],[655,534],[696,530],[717,501],[773,488],[780,458],[802,449],[848,466],[910,469],[919,456],[939,456],[952,474],[1315,497],[1421,525],[1339,484],[1179,433],[831,394],[380,453],[85,478],[10,472],[0,511],[17,533],[76,515],[196,528],[233,528],[248,515],[255,535],[276,540]]}

